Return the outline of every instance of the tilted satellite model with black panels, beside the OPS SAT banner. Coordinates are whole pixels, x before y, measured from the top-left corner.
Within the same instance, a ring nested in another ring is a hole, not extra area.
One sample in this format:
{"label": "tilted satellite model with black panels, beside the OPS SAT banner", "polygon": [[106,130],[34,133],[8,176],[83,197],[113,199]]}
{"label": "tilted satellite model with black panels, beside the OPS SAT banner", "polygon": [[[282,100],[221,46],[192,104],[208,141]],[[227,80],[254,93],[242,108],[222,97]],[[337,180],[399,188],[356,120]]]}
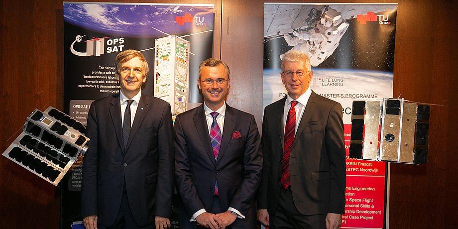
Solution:
{"label": "tilted satellite model with black panels, beside the OPS SAT banner", "polygon": [[3,156],[57,185],[78,156],[86,153],[85,131],[82,123],[53,107],[45,112],[35,109]]}

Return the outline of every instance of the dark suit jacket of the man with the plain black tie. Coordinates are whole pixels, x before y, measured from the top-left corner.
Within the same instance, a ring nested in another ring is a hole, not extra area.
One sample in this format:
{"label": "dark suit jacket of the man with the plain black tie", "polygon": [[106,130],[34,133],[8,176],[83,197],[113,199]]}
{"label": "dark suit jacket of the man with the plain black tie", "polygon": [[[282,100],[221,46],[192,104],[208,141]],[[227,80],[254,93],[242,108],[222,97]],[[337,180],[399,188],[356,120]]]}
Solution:
{"label": "dark suit jacket of the man with the plain black tie", "polygon": [[170,105],[142,94],[124,151],[119,94],[94,101],[89,109],[83,160],[81,216],[98,214],[111,226],[117,216],[123,182],[133,218],[140,226],[154,216],[170,218],[174,181]]}

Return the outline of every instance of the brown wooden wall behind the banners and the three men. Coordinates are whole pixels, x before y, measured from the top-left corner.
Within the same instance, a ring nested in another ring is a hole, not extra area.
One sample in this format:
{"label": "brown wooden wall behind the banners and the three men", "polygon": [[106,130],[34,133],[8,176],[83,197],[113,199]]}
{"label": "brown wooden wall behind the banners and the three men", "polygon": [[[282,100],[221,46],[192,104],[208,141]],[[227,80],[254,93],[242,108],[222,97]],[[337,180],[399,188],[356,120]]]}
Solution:
{"label": "brown wooden wall behind the banners and the three men", "polygon": [[[254,114],[260,125],[263,0],[140,2],[215,4],[214,56],[231,69],[228,103]],[[389,227],[454,228],[458,211],[458,61],[452,55],[458,53],[458,2],[376,2],[399,3],[393,96],[437,105],[432,106],[428,164],[391,164]],[[19,135],[26,116],[35,108],[63,110],[62,5],[61,0],[0,3],[0,152]],[[1,156],[0,228],[57,229],[59,190]]]}

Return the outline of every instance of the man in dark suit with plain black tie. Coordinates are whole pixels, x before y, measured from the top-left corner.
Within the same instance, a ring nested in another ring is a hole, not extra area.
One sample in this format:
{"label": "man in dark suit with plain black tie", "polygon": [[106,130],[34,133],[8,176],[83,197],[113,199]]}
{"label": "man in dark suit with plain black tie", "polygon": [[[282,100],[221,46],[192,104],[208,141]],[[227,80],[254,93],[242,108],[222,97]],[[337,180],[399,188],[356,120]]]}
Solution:
{"label": "man in dark suit with plain black tie", "polygon": [[170,105],[141,93],[148,63],[119,53],[119,94],[92,103],[83,160],[81,216],[87,229],[170,227],[174,181]]}

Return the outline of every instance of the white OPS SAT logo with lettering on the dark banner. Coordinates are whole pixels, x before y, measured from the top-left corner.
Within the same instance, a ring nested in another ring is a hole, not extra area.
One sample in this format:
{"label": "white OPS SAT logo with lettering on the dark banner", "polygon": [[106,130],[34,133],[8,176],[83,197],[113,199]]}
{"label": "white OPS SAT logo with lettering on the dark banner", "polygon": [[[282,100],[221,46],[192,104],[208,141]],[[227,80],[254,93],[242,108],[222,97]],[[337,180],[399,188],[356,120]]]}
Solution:
{"label": "white OPS SAT logo with lettering on the dark banner", "polygon": [[[110,37],[101,37],[101,38],[95,38],[92,37],[93,39],[89,39],[84,41],[86,43],[86,52],[79,52],[75,50],[75,43],[76,42],[81,42],[83,41],[83,37],[86,35],[77,35],[75,40],[73,41],[70,50],[72,51],[73,54],[77,56],[100,56],[107,51],[107,53],[112,53],[112,52],[121,52],[122,49],[124,48],[124,37],[120,38],[113,38],[113,39],[108,39]],[[105,49],[105,45],[107,45],[107,49]]]}

